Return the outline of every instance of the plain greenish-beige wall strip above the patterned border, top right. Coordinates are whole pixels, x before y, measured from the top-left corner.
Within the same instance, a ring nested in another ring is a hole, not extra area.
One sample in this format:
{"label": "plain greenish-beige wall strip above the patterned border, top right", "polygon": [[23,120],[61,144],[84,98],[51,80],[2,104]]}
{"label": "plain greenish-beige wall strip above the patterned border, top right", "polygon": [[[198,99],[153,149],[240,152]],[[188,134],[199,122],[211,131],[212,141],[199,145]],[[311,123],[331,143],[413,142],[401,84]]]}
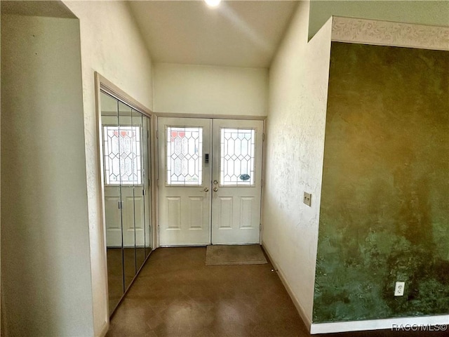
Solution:
{"label": "plain greenish-beige wall strip above the patterned border, top right", "polygon": [[309,39],[331,15],[447,27],[449,1],[312,0]]}

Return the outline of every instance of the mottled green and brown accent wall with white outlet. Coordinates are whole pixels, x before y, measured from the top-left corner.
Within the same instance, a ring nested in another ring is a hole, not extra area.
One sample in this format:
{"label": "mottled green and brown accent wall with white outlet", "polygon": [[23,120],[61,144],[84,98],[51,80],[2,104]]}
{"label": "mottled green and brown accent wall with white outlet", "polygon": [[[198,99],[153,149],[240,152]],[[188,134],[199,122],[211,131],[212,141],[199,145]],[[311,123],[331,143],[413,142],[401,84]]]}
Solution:
{"label": "mottled green and brown accent wall with white outlet", "polygon": [[449,52],[333,42],[313,321],[448,313]]}

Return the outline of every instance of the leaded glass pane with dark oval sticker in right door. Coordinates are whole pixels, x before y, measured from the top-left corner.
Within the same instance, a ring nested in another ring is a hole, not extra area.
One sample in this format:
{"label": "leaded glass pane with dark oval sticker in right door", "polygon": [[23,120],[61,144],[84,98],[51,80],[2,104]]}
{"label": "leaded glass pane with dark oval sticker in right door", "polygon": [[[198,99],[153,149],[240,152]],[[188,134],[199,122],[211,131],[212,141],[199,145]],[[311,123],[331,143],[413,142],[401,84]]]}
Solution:
{"label": "leaded glass pane with dark oval sticker in right door", "polygon": [[220,129],[220,185],[253,186],[255,131]]}

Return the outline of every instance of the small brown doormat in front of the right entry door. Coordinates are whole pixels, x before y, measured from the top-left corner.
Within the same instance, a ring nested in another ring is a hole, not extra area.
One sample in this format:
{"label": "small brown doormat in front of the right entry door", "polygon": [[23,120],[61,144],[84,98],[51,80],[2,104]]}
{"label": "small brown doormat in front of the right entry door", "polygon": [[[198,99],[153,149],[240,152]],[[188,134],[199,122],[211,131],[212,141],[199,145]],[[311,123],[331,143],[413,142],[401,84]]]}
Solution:
{"label": "small brown doormat in front of the right entry door", "polygon": [[263,265],[267,259],[259,244],[212,245],[206,249],[206,265]]}

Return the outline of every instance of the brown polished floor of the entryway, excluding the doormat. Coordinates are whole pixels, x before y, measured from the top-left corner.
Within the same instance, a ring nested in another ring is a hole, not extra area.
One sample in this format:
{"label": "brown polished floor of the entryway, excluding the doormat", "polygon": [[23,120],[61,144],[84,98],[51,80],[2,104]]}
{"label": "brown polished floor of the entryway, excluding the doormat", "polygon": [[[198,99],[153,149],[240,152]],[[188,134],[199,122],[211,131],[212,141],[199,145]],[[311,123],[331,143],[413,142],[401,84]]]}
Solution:
{"label": "brown polished floor of the entryway, excluding the doormat", "polygon": [[[107,337],[310,336],[270,263],[206,266],[206,248],[156,249],[116,309]],[[448,336],[361,331],[328,337]]]}

